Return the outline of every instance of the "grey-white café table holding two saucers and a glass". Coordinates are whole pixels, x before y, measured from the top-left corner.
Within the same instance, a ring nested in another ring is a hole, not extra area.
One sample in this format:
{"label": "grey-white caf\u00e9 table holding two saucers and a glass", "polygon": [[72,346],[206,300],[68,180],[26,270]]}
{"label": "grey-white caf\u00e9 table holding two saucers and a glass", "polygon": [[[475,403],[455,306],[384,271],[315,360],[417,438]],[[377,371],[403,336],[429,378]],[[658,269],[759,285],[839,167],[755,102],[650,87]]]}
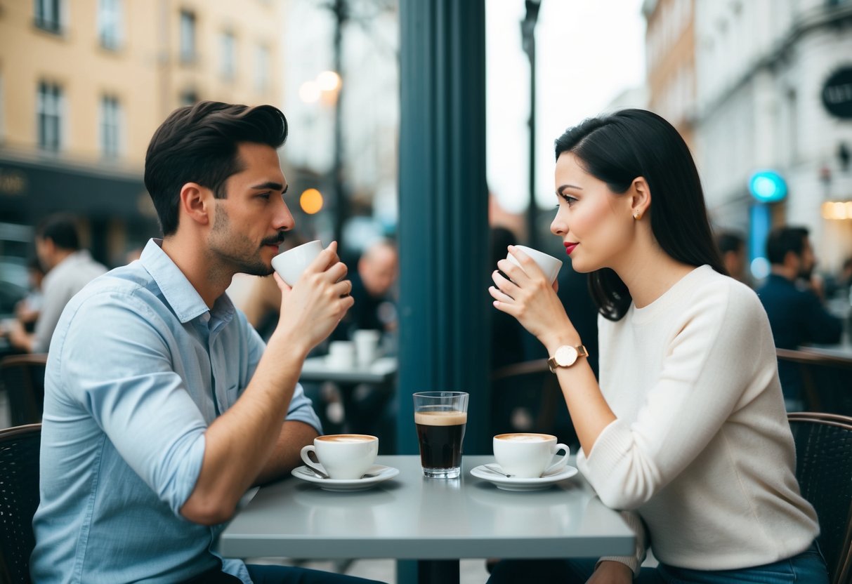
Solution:
{"label": "grey-white caf\u00e9 table holding two saucers and a glass", "polygon": [[[257,490],[218,541],[227,558],[417,559],[421,584],[458,582],[459,558],[597,558],[633,553],[635,536],[581,475],[513,492],[469,474],[423,478],[416,455],[379,456],[399,475],[371,490],[331,492],[287,478]],[[572,457],[573,464],[573,457]]]}

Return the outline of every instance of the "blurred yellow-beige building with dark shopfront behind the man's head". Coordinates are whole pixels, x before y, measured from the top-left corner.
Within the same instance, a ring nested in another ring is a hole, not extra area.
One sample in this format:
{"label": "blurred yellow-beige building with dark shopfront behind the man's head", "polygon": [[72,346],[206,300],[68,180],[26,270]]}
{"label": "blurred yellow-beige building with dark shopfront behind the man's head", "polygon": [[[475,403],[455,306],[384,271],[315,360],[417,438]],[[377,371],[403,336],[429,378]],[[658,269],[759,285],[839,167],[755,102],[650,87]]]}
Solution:
{"label": "blurred yellow-beige building with dark shopfront behind the man's head", "polygon": [[0,0],[0,215],[86,218],[95,255],[158,228],[153,130],[196,100],[280,103],[273,0]]}

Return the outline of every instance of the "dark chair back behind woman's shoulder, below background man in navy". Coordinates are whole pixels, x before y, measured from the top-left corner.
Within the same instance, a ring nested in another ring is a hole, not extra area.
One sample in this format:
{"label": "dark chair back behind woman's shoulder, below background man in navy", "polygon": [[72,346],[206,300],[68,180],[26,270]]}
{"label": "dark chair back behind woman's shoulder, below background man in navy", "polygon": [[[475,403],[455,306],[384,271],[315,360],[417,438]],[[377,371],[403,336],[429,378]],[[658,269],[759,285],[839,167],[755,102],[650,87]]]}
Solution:
{"label": "dark chair back behind woman's shoulder, below background man in navy", "polygon": [[775,349],[775,352],[779,362],[798,365],[805,409],[852,415],[852,358],[807,350]]}

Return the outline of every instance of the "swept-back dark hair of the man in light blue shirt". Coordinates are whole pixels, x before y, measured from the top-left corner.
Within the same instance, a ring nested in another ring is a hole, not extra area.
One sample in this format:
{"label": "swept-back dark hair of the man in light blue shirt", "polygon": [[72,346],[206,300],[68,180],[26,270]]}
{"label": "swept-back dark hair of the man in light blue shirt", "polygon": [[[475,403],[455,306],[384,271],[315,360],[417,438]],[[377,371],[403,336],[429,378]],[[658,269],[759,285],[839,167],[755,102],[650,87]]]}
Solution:
{"label": "swept-back dark hair of the man in light blue shirt", "polygon": [[145,186],[163,235],[177,231],[181,187],[197,182],[226,198],[225,181],[242,170],[240,143],[275,149],[287,140],[287,118],[274,106],[201,101],[171,112],[151,138],[145,156]]}

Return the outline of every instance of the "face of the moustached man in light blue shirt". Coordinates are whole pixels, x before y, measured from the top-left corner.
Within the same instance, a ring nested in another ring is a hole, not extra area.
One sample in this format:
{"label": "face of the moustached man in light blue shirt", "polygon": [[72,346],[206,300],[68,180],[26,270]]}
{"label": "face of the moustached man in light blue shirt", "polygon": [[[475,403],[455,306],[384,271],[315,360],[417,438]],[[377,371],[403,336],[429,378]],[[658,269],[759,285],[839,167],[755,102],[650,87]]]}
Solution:
{"label": "face of the moustached man in light blue shirt", "polygon": [[237,156],[243,169],[227,178],[227,197],[216,199],[210,252],[233,273],[268,276],[284,232],[295,225],[283,198],[287,183],[271,146],[244,142]]}

